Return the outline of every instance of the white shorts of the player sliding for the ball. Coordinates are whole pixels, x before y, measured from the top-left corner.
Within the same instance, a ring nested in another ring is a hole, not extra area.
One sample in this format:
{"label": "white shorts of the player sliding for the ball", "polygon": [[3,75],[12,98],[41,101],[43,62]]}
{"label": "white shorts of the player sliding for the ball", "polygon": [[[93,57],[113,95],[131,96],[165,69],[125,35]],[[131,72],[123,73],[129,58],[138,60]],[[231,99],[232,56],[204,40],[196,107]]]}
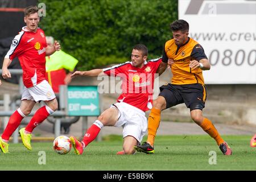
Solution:
{"label": "white shorts of the player sliding for the ball", "polygon": [[147,131],[147,118],[144,111],[125,102],[115,103],[111,107],[117,107],[119,110],[118,121],[114,126],[123,127],[123,138],[132,136],[141,142]]}

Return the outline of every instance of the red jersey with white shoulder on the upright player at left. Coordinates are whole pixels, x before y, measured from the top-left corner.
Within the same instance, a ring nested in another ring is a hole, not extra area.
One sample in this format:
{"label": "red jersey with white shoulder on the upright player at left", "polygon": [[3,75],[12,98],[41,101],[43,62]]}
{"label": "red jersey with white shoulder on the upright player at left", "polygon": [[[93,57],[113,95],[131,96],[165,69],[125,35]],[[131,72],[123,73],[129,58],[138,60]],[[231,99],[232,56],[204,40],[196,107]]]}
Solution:
{"label": "red jersey with white shoulder on the upright player at left", "polygon": [[46,80],[46,35],[40,28],[36,32],[25,27],[13,39],[6,58],[18,57],[23,69],[23,83],[30,88]]}

